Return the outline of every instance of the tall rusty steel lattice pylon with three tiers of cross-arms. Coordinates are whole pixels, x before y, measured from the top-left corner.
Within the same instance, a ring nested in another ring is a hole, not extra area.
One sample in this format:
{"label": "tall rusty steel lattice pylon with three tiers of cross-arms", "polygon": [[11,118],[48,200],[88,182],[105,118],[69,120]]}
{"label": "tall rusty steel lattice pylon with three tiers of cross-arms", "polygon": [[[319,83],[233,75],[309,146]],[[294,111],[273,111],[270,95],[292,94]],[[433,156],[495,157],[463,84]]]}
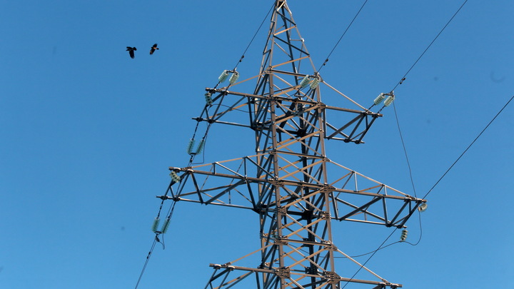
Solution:
{"label": "tall rusty steel lattice pylon with three tiers of cross-arms", "polygon": [[[195,118],[208,126],[226,123],[251,128],[256,154],[171,167],[175,180],[168,193],[158,198],[243,208],[258,215],[261,248],[230,263],[211,264],[214,272],[206,288],[334,289],[347,282],[368,284],[368,288],[401,287],[366,267],[363,270],[374,280],[336,273],[344,270],[351,275],[361,264],[333,243],[332,223],[348,220],[403,228],[425,200],[327,157],[326,140],[362,143],[381,114],[323,81],[286,1],[277,0],[275,5],[258,75],[226,87],[217,88],[218,83],[206,88],[211,101]],[[233,90],[251,80],[257,82],[253,93]],[[326,105],[321,101],[322,89],[351,108]],[[235,111],[246,111],[248,123],[227,121]],[[351,267],[336,268],[337,256],[345,257]],[[255,263],[241,265],[245,260]]]}

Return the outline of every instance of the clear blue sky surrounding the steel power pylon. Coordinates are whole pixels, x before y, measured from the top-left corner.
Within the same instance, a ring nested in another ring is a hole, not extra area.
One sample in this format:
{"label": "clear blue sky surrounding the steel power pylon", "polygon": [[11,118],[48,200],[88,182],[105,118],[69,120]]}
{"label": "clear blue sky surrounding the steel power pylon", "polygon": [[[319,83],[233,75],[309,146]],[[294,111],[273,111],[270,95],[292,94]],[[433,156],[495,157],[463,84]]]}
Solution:
{"label": "clear blue sky surrounding the steel power pylon", "polygon": [[[317,2],[288,1],[316,67],[363,1]],[[168,186],[168,166],[187,164],[203,89],[233,68],[272,3],[0,1],[0,288],[136,285],[155,196]],[[323,79],[368,106],[460,4],[369,1]],[[418,196],[513,95],[513,15],[512,1],[468,1],[395,90]],[[258,73],[267,28],[238,66],[241,79]],[[161,49],[149,56],[153,43]],[[135,59],[126,46],[137,47]],[[383,113],[365,144],[330,141],[328,156],[410,193],[393,108]],[[430,193],[420,244],[391,245],[368,268],[404,288],[514,288],[513,116],[511,103]],[[252,155],[246,141],[250,131],[213,126],[205,161]],[[390,230],[334,225],[349,255],[375,250]],[[418,216],[408,230],[415,243]],[[399,238],[398,230],[390,242]],[[258,248],[258,218],[178,203],[165,241],[139,288],[203,288],[209,263]]]}

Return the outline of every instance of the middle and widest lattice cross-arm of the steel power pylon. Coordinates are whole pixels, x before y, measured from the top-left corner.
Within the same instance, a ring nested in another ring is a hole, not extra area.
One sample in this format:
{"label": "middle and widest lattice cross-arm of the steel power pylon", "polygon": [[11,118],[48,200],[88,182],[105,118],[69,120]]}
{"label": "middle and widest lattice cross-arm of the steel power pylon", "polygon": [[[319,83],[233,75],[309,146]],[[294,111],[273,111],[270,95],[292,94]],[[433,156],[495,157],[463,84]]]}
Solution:
{"label": "middle and widest lattice cross-arm of the steel power pylon", "polygon": [[[257,213],[276,210],[280,203],[291,215],[304,216],[309,211],[311,218],[323,218],[323,206],[330,203],[332,220],[398,228],[403,227],[421,203],[425,203],[423,199],[402,193],[326,158],[311,158],[309,166],[301,167],[300,158],[293,161],[288,160],[288,156],[278,156],[283,163],[278,173],[269,165],[259,165],[271,164],[271,154],[190,168],[171,167],[170,170],[181,177],[181,182],[177,184],[178,191],[168,198],[245,208]],[[321,163],[326,163],[327,171],[334,176],[328,183],[318,180],[323,175]],[[277,189],[281,190],[278,200],[275,198]],[[328,192],[328,200],[323,198],[325,192]]]}

